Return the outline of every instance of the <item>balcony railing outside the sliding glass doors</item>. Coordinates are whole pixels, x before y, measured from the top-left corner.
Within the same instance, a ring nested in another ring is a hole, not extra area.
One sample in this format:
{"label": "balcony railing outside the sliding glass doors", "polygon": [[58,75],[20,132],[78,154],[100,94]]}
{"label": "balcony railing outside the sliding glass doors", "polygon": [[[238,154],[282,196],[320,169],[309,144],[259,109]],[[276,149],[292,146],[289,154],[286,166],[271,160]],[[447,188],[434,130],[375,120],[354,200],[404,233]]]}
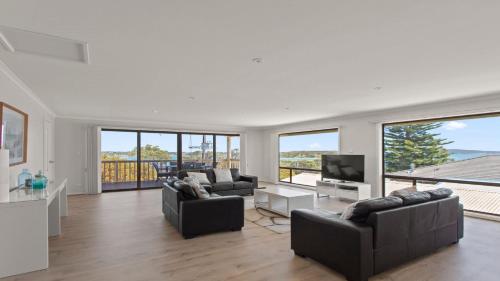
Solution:
{"label": "balcony railing outside the sliding glass doors", "polygon": [[[157,179],[158,175],[153,163],[157,163],[162,173],[177,171],[177,161],[175,160],[143,160],[140,163],[141,181],[155,181]],[[198,169],[206,166],[199,161],[183,161],[182,165]],[[238,159],[218,160],[217,167],[239,169],[240,161]],[[101,181],[104,184],[137,182],[137,168],[135,160],[103,160],[101,161]]]}

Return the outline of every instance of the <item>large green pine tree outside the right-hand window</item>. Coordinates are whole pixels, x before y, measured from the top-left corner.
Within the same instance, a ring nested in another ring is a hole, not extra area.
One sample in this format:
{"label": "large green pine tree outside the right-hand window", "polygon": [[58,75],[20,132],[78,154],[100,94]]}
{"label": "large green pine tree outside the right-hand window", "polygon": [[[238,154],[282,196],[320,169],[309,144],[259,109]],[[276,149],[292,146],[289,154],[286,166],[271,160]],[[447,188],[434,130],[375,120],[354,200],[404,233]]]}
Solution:
{"label": "large green pine tree outside the right-hand window", "polygon": [[433,132],[442,125],[443,123],[437,122],[386,127],[384,138],[386,172],[450,161],[450,155],[444,146],[453,141],[440,138],[439,133]]}

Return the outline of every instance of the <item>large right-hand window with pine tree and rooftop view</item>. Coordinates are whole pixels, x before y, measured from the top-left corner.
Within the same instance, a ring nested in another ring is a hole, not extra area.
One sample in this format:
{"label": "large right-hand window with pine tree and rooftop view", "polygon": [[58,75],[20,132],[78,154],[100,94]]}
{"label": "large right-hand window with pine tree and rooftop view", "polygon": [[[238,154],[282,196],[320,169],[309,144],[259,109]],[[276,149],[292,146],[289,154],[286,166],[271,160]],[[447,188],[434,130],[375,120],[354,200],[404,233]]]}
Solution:
{"label": "large right-hand window with pine tree and rooftop view", "polygon": [[500,116],[384,124],[384,194],[451,188],[469,211],[500,215]]}

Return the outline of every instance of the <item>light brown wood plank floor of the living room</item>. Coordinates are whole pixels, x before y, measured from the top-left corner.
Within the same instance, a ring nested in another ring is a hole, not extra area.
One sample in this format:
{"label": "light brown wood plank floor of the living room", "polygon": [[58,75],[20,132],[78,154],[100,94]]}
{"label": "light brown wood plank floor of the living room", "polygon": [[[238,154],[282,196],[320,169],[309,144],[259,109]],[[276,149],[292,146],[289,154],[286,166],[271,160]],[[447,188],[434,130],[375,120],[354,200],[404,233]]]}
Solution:
{"label": "light brown wood plank floor of the living room", "polygon": [[[289,234],[252,223],[184,240],[163,218],[161,190],[71,196],[69,207],[63,235],[50,240],[50,269],[2,281],[344,280],[294,256]],[[500,280],[500,223],[466,218],[465,228],[458,245],[370,280]]]}

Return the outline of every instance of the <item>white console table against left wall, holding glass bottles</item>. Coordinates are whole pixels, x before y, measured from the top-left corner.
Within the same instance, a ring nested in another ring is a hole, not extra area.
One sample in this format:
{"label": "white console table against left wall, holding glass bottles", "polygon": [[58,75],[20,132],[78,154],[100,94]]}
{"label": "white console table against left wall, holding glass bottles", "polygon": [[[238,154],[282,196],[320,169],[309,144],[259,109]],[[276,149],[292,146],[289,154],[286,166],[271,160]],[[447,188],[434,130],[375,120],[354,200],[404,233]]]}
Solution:
{"label": "white console table against left wall, holding glass bottles", "polygon": [[45,189],[16,189],[0,203],[0,278],[49,267],[49,236],[68,215],[67,180]]}

